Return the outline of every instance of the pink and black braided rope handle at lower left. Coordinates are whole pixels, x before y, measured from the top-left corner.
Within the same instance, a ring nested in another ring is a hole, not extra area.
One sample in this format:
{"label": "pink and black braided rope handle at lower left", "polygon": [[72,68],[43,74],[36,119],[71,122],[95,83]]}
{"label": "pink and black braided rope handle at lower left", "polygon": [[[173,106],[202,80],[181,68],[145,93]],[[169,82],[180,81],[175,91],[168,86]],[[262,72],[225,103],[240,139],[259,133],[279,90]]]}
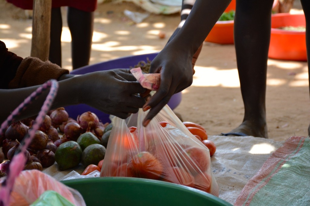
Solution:
{"label": "pink and black braided rope handle at lower left", "polygon": [[35,131],[39,129],[41,126],[45,115],[47,114],[47,111],[50,109],[51,104],[54,101],[54,98],[57,94],[58,90],[58,82],[55,79],[51,79],[47,81],[46,83],[42,84],[41,87],[39,87],[36,91],[34,91],[29,97],[27,97],[23,103],[21,103],[13,112],[12,114],[7,118],[6,121],[4,121],[1,125],[1,130],[3,128],[6,128],[8,126],[8,122],[11,121],[14,116],[19,114],[19,111],[21,109],[25,108],[26,104],[29,104],[31,102],[33,97],[37,97],[42,93],[43,89],[50,88],[50,92],[47,95],[46,100],[43,103],[43,106],[41,107],[41,110],[35,120],[35,123],[33,124],[32,128],[29,130],[28,134],[24,137],[23,141],[24,144],[20,144],[19,149],[20,152],[12,158],[10,165],[9,165],[9,174],[7,174],[6,180],[2,183],[2,186],[0,188],[0,206],[6,206],[9,205],[10,202],[10,193],[13,189],[15,179],[18,177],[20,172],[24,169],[24,165],[26,164],[26,157],[24,153],[26,152],[29,144],[31,143]]}

